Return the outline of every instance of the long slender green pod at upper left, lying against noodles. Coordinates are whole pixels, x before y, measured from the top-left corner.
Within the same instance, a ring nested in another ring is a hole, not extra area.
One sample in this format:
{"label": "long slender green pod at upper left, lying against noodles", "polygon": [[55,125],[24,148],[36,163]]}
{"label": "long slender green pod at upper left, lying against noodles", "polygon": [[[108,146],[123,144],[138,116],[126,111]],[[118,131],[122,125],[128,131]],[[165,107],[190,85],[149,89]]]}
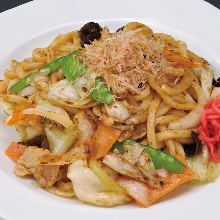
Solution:
{"label": "long slender green pod at upper left, lying against noodles", "polygon": [[77,55],[79,54],[79,50],[76,50],[76,51],[73,51],[65,56],[62,56],[56,60],[53,60],[52,62],[46,64],[45,66],[43,66],[42,68],[40,68],[40,73],[53,73],[55,72],[56,70],[58,70],[61,65],[65,62],[65,60],[70,57],[71,55]]}

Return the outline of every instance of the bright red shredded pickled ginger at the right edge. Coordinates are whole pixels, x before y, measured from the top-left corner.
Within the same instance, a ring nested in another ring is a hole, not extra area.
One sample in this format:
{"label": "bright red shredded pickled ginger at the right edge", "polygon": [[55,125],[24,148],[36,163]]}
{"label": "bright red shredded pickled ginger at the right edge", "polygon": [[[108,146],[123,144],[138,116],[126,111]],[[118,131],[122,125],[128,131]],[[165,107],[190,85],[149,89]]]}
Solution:
{"label": "bright red shredded pickled ginger at the right edge", "polygon": [[208,146],[210,160],[220,163],[220,99],[213,99],[204,106],[199,139]]}

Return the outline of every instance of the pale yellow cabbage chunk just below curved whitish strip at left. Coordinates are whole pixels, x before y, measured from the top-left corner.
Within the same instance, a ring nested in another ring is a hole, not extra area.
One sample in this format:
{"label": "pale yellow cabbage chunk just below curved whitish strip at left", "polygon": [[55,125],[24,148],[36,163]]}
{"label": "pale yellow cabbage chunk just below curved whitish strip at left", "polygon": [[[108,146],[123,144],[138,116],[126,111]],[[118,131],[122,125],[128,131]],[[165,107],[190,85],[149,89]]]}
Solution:
{"label": "pale yellow cabbage chunk just below curved whitish strip at left", "polygon": [[50,152],[63,154],[76,142],[78,132],[76,128],[60,130],[56,126],[46,127],[45,133],[49,143]]}

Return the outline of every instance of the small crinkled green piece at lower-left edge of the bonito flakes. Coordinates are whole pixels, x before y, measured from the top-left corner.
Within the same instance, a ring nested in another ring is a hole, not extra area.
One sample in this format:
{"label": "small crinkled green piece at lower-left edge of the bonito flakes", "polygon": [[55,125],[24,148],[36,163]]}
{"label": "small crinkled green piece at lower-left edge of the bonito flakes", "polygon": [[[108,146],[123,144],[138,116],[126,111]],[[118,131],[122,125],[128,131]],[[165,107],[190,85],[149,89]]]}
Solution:
{"label": "small crinkled green piece at lower-left edge of the bonito flakes", "polygon": [[113,95],[110,90],[108,90],[107,85],[102,81],[101,78],[96,78],[93,88],[89,96],[98,102],[111,104],[113,102]]}

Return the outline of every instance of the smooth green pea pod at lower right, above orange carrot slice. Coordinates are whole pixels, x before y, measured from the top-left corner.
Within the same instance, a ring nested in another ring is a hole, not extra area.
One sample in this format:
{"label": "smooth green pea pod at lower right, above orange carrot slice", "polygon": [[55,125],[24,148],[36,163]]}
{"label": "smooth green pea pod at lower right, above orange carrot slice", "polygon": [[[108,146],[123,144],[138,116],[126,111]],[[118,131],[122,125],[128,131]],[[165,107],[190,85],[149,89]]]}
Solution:
{"label": "smooth green pea pod at lower right, above orange carrot slice", "polygon": [[156,169],[163,168],[171,173],[183,173],[186,166],[170,154],[144,145]]}

